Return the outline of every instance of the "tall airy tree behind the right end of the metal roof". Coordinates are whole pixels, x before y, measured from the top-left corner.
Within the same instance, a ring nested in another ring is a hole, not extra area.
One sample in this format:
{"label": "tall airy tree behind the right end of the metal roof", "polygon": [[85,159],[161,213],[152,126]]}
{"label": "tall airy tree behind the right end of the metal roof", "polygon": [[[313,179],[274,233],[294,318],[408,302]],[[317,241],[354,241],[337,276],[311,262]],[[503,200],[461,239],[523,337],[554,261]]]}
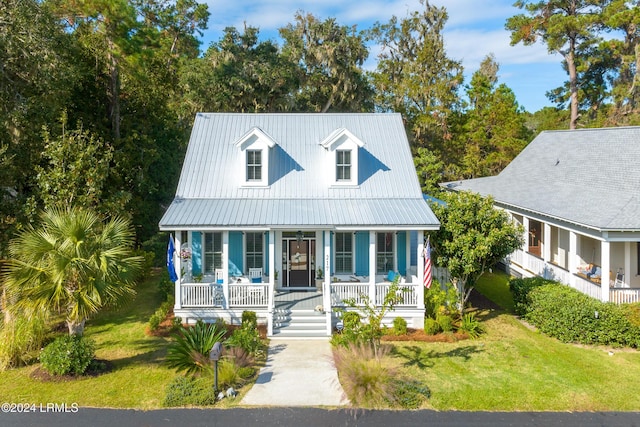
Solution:
{"label": "tall airy tree behind the right end of the metal roof", "polygon": [[382,47],[373,73],[376,103],[382,110],[402,113],[414,147],[429,148],[451,163],[457,152],[450,146],[451,121],[460,107],[462,65],[446,55],[446,10],[426,0],[420,3],[424,10],[376,23],[370,32]]}

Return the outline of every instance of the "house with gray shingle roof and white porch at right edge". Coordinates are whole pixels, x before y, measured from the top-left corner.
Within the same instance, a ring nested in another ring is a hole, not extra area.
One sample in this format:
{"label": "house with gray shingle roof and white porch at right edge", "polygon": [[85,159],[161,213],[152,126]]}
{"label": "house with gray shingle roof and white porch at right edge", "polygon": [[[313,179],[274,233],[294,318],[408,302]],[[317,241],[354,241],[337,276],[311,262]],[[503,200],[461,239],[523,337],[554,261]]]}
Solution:
{"label": "house with gray shingle roof and white porch at right edge", "polygon": [[491,195],[523,225],[512,271],[640,301],[640,127],[542,132],[499,175],[443,186]]}

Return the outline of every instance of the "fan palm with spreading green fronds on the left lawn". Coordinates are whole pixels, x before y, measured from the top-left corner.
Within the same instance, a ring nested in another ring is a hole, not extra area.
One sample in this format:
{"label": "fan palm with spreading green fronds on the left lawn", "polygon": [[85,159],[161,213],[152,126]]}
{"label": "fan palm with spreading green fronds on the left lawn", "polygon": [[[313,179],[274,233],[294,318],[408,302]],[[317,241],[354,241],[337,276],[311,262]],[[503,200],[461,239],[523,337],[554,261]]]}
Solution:
{"label": "fan palm with spreading green fronds on the left lawn", "polygon": [[135,294],[142,257],[128,220],[80,208],[45,211],[9,243],[5,289],[12,310],[61,313],[70,335],[100,309]]}

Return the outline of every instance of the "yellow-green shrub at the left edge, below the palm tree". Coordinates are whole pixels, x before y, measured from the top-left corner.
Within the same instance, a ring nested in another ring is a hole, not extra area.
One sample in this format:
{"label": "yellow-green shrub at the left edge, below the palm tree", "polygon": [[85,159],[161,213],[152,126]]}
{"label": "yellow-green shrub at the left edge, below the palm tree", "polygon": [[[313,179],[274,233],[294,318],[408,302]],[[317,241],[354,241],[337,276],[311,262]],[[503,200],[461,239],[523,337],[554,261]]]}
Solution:
{"label": "yellow-green shrub at the left edge, below the palm tree", "polygon": [[37,316],[14,316],[6,324],[0,321],[0,371],[35,360],[46,331],[45,320]]}

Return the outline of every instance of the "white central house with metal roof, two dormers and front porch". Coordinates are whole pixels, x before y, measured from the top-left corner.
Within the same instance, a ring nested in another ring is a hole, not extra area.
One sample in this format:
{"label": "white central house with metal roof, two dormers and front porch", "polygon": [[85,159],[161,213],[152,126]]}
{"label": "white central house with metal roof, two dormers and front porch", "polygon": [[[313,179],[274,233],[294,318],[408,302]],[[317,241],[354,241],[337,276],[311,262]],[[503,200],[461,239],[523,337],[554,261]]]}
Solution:
{"label": "white central house with metal roof, two dormers and front porch", "polygon": [[423,232],[438,227],[398,114],[198,114],[160,221],[176,316],[252,310],[269,335],[301,336],[331,335],[345,298],[380,304],[390,272],[408,291],[385,321],[422,328]]}

